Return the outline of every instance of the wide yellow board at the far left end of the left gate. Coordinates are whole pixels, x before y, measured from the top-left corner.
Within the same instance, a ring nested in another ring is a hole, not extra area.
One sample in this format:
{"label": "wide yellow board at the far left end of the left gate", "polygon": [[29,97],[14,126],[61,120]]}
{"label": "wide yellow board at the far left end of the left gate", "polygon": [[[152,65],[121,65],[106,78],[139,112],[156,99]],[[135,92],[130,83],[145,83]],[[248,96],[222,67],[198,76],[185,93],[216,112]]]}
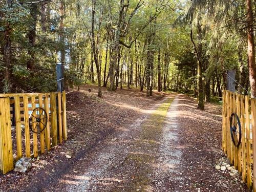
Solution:
{"label": "wide yellow board at the far left end of the left gate", "polygon": [[9,98],[0,98],[0,156],[3,174],[13,169]]}

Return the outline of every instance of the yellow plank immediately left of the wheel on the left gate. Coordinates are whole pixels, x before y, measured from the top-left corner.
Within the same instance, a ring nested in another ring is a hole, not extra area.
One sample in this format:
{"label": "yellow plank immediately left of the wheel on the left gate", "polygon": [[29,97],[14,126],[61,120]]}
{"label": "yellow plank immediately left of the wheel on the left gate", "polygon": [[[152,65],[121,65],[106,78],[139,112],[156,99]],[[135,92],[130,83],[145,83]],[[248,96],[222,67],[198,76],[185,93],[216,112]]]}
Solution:
{"label": "yellow plank immediately left of the wheel on the left gate", "polygon": [[25,145],[26,157],[30,157],[30,136],[29,136],[29,110],[28,110],[28,96],[24,95],[24,115],[25,115]]}

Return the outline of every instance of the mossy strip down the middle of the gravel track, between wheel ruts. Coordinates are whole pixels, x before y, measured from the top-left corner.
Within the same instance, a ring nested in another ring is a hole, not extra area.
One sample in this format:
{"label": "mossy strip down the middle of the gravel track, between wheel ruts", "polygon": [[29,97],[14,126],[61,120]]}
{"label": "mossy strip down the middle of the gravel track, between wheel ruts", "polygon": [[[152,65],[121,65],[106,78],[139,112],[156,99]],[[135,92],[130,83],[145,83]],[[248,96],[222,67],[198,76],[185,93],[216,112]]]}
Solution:
{"label": "mossy strip down the middle of the gravel track, between wheel ruts", "polygon": [[141,134],[137,137],[130,153],[126,158],[126,166],[134,167],[131,170],[131,180],[127,183],[129,191],[147,191],[152,182],[153,164],[156,162],[156,152],[160,145],[164,120],[173,98],[166,99],[151,115],[151,118],[142,124]]}

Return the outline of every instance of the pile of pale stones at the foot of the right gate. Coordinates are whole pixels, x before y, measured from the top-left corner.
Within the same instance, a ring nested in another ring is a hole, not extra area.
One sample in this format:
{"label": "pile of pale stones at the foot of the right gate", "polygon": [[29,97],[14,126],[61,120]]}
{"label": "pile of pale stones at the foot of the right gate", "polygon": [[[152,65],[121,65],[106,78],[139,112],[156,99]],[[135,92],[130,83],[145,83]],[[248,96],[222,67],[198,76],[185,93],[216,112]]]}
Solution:
{"label": "pile of pale stones at the foot of the right gate", "polygon": [[234,168],[234,166],[230,165],[229,160],[226,157],[222,157],[219,160],[216,161],[215,168],[218,170],[222,170],[223,172],[227,171],[230,172],[229,174],[232,177],[238,176],[238,170]]}

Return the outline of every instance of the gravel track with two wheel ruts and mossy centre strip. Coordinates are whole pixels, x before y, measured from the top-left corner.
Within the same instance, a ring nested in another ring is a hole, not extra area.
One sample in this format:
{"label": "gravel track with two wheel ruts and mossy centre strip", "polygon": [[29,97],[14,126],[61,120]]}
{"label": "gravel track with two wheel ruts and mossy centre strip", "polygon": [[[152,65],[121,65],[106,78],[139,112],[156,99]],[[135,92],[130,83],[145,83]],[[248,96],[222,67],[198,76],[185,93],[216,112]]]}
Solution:
{"label": "gravel track with two wheel ruts and mossy centre strip", "polygon": [[181,158],[175,147],[177,98],[165,98],[129,130],[104,141],[104,147],[79,159],[47,190],[167,191],[166,180],[178,173],[175,167]]}

